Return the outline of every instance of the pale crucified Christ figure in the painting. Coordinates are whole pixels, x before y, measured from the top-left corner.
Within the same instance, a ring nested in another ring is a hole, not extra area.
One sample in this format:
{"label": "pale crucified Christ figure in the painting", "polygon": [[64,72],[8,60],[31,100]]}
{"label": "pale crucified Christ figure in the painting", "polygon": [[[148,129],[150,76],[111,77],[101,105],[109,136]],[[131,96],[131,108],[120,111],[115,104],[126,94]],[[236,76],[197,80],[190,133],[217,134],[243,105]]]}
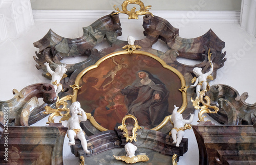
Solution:
{"label": "pale crucified Christ figure in the painting", "polygon": [[114,57],[112,57],[112,62],[115,64],[115,67],[112,70],[110,70],[106,75],[103,75],[103,78],[105,78],[104,82],[101,85],[101,88],[103,89],[114,81],[114,78],[119,70],[121,70],[122,68],[127,68],[127,64],[118,64],[114,60]]}

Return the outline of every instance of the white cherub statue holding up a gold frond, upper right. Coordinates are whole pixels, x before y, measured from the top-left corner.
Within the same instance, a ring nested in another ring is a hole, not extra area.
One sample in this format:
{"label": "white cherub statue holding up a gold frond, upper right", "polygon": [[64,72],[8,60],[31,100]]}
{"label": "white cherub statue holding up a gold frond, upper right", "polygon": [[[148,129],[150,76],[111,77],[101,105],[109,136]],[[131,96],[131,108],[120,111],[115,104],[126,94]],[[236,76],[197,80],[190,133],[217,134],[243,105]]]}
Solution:
{"label": "white cherub statue holding up a gold frond, upper right", "polygon": [[193,87],[197,86],[197,88],[196,88],[197,97],[199,97],[199,95],[200,95],[199,93],[201,91],[201,88],[202,88],[202,90],[205,90],[205,89],[209,90],[209,88],[210,88],[210,86],[207,82],[207,78],[212,79],[212,78],[208,77],[208,76],[211,75],[211,73],[214,70],[214,67],[213,67],[211,61],[210,61],[210,66],[211,66],[210,71],[205,73],[205,74],[202,73],[202,68],[201,67],[195,67],[193,69],[193,73],[197,76],[197,78],[196,77],[193,78],[192,83],[195,82],[195,84],[191,85],[190,88],[193,88]]}

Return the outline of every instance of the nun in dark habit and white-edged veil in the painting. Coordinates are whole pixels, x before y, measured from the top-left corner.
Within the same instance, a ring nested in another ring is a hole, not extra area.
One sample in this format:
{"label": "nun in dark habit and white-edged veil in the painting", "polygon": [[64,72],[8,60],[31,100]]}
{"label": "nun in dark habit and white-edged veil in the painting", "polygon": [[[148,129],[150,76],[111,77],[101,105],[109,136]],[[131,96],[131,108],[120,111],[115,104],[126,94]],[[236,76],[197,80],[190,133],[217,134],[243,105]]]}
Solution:
{"label": "nun in dark habit and white-edged veil in the painting", "polygon": [[115,89],[125,95],[127,114],[134,115],[140,126],[152,129],[168,115],[169,91],[165,85],[147,70],[137,73],[137,80],[124,89]]}

